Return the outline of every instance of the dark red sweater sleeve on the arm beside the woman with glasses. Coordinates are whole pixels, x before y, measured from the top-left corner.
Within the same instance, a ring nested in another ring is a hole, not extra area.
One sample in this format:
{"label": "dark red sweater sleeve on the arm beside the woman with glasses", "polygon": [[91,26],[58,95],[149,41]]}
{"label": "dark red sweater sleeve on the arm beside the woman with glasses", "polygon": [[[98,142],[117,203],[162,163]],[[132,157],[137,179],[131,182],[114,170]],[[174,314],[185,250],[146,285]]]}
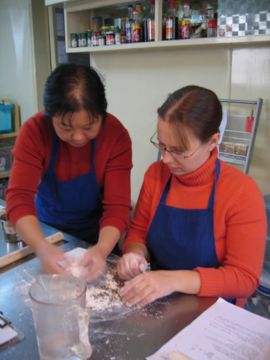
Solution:
{"label": "dark red sweater sleeve on the arm beside the woman with glasses", "polygon": [[130,221],[132,148],[129,133],[124,129],[116,140],[105,169],[103,216],[100,230],[105,226],[117,227],[122,234]]}

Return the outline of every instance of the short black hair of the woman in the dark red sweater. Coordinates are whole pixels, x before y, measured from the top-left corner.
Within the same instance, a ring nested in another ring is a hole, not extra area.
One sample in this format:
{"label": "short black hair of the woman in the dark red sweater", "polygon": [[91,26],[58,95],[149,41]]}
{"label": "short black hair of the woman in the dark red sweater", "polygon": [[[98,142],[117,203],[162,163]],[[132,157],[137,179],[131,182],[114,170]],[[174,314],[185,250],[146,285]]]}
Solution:
{"label": "short black hair of the woman in the dark red sweater", "polygon": [[91,66],[63,64],[47,78],[43,95],[45,118],[86,110],[106,118],[107,100],[100,76]]}

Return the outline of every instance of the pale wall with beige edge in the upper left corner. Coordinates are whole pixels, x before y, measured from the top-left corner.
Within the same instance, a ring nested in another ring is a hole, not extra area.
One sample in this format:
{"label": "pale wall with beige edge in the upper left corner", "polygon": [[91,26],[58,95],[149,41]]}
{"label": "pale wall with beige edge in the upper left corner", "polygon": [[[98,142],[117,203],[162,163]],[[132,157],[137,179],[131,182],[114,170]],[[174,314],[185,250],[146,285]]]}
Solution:
{"label": "pale wall with beige edge in the upper left corner", "polygon": [[44,0],[0,0],[0,34],[0,97],[19,104],[23,122],[42,109],[50,74]]}

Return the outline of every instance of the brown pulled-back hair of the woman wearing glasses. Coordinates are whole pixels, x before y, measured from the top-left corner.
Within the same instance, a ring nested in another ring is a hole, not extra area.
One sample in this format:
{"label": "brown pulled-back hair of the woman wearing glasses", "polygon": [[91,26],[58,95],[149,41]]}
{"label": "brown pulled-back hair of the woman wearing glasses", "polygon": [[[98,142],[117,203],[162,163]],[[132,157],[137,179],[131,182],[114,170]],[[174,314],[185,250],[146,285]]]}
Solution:
{"label": "brown pulled-back hair of the woman wearing glasses", "polygon": [[195,85],[170,94],[157,113],[160,119],[174,125],[184,150],[188,148],[185,127],[205,143],[213,134],[219,133],[222,120],[222,106],[215,93]]}

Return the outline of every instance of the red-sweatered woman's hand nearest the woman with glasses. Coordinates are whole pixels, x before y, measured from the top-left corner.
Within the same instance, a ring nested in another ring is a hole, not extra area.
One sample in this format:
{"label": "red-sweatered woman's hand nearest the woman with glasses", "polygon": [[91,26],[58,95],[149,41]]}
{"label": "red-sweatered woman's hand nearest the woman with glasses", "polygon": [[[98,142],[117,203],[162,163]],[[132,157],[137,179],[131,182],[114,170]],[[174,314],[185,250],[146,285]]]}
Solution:
{"label": "red-sweatered woman's hand nearest the woman with glasses", "polygon": [[99,249],[98,244],[90,247],[80,265],[88,270],[84,280],[94,282],[100,278],[106,270],[106,257]]}

